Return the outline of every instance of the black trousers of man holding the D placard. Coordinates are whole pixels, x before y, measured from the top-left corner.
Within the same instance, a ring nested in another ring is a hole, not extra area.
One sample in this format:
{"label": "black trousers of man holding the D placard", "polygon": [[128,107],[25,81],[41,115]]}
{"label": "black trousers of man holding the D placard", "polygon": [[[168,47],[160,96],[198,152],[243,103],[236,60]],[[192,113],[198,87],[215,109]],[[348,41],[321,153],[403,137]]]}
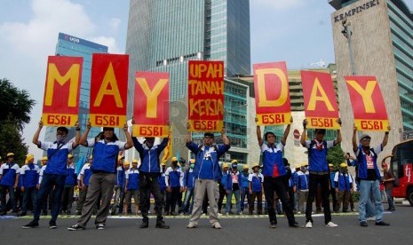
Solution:
{"label": "black trousers of man holding the D placard", "polygon": [[289,225],[294,225],[296,219],[294,217],[294,213],[292,211],[292,206],[290,199],[287,195],[287,190],[284,186],[284,179],[283,177],[272,178],[272,177],[264,177],[264,194],[266,195],[266,203],[268,209],[268,217],[270,219],[270,223],[277,224],[277,217],[275,215],[274,209],[274,192],[277,194],[278,198],[282,202],[282,207],[284,207],[285,215],[289,221]]}

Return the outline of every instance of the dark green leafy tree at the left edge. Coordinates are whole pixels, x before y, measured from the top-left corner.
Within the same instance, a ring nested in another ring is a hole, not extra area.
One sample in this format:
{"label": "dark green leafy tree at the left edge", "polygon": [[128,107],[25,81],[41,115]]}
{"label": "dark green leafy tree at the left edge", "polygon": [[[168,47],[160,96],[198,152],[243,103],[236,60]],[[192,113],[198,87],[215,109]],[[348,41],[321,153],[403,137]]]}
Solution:
{"label": "dark green leafy tree at the left edge", "polygon": [[30,112],[36,101],[28,91],[16,88],[9,80],[0,80],[0,155],[14,153],[15,162],[23,162],[28,146],[23,143],[22,130],[30,123]]}

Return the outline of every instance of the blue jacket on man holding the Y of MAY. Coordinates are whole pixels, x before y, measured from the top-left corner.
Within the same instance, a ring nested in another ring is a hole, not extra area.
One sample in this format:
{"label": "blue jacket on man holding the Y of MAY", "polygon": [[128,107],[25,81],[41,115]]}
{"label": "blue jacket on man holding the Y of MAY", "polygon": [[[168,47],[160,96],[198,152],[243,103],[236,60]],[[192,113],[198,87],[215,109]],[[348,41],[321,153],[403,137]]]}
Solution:
{"label": "blue jacket on man holding the Y of MAY", "polygon": [[140,156],[140,173],[156,173],[161,174],[161,166],[159,162],[159,155],[162,153],[165,146],[168,144],[168,138],[163,138],[159,145],[148,147],[147,144],[140,144],[138,138],[132,137],[133,145],[139,152]]}

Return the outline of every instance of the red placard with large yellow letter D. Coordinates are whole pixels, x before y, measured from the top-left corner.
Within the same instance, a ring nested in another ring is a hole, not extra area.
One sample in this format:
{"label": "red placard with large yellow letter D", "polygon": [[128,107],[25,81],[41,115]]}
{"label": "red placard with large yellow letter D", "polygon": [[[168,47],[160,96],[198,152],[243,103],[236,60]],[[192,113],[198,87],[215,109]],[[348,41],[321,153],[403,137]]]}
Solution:
{"label": "red placard with large yellow letter D", "polygon": [[290,124],[290,87],[285,62],[253,67],[257,125]]}

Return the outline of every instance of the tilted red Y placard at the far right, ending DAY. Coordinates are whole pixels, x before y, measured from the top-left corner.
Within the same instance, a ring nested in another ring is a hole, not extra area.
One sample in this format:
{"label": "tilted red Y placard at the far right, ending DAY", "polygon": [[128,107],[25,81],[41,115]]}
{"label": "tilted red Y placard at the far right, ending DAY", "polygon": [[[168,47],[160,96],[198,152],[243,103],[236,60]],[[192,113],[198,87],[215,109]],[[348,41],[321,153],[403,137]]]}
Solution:
{"label": "tilted red Y placard at the far right, ending DAY", "polygon": [[358,130],[386,131],[389,126],[385,100],[375,76],[345,76]]}

